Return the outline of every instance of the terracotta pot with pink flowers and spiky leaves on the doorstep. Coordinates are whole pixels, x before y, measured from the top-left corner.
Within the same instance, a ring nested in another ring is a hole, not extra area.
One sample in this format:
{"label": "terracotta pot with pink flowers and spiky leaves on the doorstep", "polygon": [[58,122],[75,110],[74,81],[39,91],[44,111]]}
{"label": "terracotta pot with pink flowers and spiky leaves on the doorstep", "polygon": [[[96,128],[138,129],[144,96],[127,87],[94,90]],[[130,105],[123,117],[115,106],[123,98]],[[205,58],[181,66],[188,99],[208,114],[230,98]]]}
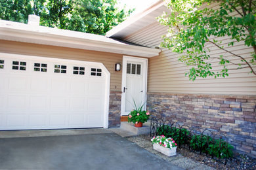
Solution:
{"label": "terracotta pot with pink flowers and spiky leaves on the doorstep", "polygon": [[146,110],[142,110],[143,105],[137,107],[135,101],[133,101],[135,109],[128,114],[128,122],[133,122],[135,127],[142,127],[142,124],[146,122],[150,116],[150,113]]}

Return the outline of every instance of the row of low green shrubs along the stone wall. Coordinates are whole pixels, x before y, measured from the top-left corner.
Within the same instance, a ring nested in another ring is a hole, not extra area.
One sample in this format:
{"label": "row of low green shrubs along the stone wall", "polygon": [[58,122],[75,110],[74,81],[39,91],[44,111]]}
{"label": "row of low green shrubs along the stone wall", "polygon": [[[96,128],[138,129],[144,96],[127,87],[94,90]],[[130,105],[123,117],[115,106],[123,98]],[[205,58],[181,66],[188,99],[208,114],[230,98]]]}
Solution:
{"label": "row of low green shrubs along the stone wall", "polygon": [[177,127],[160,126],[157,129],[158,135],[172,137],[179,146],[188,144],[193,150],[197,150],[217,158],[232,158],[233,146],[226,143],[223,139],[213,140],[207,135],[192,135],[187,129],[179,129]]}

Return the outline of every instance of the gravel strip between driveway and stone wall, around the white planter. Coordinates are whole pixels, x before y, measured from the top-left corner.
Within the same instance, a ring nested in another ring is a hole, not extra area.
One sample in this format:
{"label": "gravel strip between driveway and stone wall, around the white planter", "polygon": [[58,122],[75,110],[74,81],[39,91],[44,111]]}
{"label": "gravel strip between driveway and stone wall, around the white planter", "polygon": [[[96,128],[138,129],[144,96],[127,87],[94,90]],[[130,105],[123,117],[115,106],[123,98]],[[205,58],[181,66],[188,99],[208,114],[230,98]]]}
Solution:
{"label": "gravel strip between driveway and stone wall, around the white planter", "polygon": [[213,160],[209,156],[196,154],[186,148],[177,148],[177,156],[167,157],[152,148],[150,141],[152,137],[149,135],[127,137],[127,139],[184,169],[256,169],[256,159],[243,154],[235,154],[234,158],[227,160],[226,165],[224,165],[224,163]]}

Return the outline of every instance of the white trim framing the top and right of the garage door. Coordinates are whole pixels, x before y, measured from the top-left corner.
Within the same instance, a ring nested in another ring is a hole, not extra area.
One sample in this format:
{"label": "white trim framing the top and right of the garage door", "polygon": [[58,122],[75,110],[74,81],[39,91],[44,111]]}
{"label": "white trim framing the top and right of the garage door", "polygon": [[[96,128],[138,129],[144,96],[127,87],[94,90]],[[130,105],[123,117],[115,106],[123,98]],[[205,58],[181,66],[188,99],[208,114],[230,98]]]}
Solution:
{"label": "white trim framing the top and right of the garage door", "polygon": [[102,71],[106,76],[106,83],[104,84],[105,93],[104,93],[104,111],[103,111],[103,128],[108,128],[108,114],[109,114],[109,103],[110,103],[110,72],[105,67],[103,63],[100,62],[93,62],[93,61],[82,61],[82,60],[75,60],[75,59],[64,59],[64,58],[50,58],[48,56],[35,56],[35,55],[24,55],[24,54],[12,54],[12,53],[4,53],[0,52],[0,57],[8,57],[8,58],[24,58],[24,59],[37,59],[42,61],[43,59],[47,59],[47,61],[64,61],[64,62],[71,62],[71,63],[84,63],[88,64],[91,63],[92,65],[99,64],[102,67]]}

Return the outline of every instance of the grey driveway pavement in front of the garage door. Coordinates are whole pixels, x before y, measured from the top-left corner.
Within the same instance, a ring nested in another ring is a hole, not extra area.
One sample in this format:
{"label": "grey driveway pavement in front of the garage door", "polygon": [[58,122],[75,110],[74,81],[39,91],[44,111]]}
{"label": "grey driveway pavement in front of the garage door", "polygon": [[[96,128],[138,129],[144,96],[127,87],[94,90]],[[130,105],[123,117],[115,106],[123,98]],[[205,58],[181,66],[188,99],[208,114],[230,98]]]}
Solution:
{"label": "grey driveway pavement in front of the garage door", "polygon": [[181,168],[108,131],[83,135],[0,138],[0,169]]}

